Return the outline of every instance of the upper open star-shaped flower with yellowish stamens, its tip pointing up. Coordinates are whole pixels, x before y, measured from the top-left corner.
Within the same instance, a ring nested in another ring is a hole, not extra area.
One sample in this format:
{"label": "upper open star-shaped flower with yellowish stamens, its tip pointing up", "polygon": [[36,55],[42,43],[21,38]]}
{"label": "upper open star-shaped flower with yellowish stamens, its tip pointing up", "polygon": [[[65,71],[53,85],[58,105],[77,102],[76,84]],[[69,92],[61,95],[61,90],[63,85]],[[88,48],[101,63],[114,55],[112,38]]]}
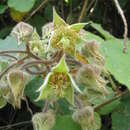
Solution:
{"label": "upper open star-shaped flower with yellowish stamens, its tip pointing up", "polygon": [[50,38],[49,47],[62,49],[65,53],[74,55],[76,42],[80,39],[79,31],[86,23],[68,25],[53,9],[53,24],[54,31]]}

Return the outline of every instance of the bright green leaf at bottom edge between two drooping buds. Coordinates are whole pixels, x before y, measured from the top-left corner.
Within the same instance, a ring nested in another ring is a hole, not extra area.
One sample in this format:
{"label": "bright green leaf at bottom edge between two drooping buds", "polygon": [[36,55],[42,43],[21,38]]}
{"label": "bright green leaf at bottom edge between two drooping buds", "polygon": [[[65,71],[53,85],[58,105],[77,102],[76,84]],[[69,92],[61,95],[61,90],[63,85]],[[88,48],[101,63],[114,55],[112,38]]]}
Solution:
{"label": "bright green leaf at bottom edge between two drooping buds", "polygon": [[56,117],[56,123],[51,130],[81,130],[81,128],[72,120],[71,115],[64,115]]}

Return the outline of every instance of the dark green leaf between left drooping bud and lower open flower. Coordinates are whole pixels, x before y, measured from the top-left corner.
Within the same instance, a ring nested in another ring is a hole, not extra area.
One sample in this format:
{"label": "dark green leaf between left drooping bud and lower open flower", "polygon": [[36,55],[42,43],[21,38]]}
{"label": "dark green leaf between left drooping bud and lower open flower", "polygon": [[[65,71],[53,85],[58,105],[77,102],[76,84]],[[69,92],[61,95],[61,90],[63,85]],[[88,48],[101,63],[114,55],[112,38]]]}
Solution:
{"label": "dark green leaf between left drooping bud and lower open flower", "polygon": [[41,85],[43,84],[43,78],[42,77],[34,77],[25,87],[24,93],[27,97],[29,97],[30,101],[33,102],[38,107],[43,107],[44,102],[35,100],[39,96],[39,92],[36,92]]}

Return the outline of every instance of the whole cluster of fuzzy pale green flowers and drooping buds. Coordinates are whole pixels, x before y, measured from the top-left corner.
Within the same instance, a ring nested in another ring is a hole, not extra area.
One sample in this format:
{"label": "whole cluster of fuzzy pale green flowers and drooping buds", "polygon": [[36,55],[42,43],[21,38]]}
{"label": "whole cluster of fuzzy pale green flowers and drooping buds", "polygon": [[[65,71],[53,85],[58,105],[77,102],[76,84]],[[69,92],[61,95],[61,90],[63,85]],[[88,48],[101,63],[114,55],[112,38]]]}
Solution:
{"label": "whole cluster of fuzzy pale green flowers and drooping buds", "polygon": [[[68,25],[55,9],[53,23],[43,26],[42,37],[27,23],[16,25],[11,35],[17,39],[18,45],[25,46],[25,51],[10,51],[22,53],[22,58],[21,55],[15,57],[8,54],[13,62],[10,66],[10,63],[7,64],[0,75],[0,107],[9,102],[20,108],[29,76],[32,78],[32,75],[40,75],[43,84],[36,92],[39,92],[36,102],[44,100],[53,104],[64,98],[74,108],[81,108],[74,112],[73,119],[83,130],[100,129],[100,121],[96,122],[97,115],[92,106],[95,105],[95,98],[104,99],[108,93],[102,76],[105,60],[100,54],[99,44],[95,41],[86,42],[81,36],[81,31],[85,33],[85,25]],[[54,125],[54,113],[48,109],[47,113],[33,116],[36,130],[50,130]]]}

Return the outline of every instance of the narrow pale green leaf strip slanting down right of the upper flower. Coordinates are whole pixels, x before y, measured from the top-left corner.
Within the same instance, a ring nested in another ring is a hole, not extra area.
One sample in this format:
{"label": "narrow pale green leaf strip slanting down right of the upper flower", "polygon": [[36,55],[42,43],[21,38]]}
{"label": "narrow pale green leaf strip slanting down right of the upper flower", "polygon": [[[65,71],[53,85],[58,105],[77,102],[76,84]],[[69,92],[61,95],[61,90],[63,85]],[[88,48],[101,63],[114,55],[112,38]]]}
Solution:
{"label": "narrow pale green leaf strip slanting down right of the upper flower", "polygon": [[90,25],[96,29],[105,38],[105,40],[114,38],[108,31],[104,30],[100,24],[91,22]]}

